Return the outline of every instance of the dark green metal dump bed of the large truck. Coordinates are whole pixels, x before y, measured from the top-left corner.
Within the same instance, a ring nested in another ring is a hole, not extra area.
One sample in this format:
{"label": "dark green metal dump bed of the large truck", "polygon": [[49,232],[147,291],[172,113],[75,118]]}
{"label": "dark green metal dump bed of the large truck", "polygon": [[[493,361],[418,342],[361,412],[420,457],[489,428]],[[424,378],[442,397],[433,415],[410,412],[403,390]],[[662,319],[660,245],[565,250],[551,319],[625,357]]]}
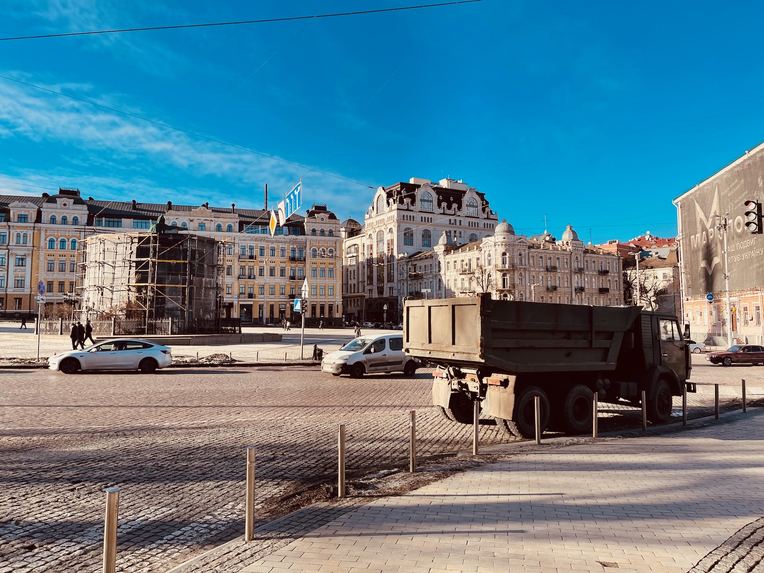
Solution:
{"label": "dark green metal dump bed of the large truck", "polygon": [[641,307],[493,300],[488,295],[406,300],[407,354],[509,374],[615,370]]}

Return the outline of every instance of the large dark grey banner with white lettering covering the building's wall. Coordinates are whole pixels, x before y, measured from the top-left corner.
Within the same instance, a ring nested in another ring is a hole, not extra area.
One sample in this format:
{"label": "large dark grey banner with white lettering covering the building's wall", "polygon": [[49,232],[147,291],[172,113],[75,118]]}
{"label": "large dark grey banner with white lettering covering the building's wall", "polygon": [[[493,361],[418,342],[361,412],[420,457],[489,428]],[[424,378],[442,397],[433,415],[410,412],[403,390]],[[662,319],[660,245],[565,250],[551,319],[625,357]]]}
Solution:
{"label": "large dark grey banner with white lettering covering the building's wall", "polygon": [[[762,148],[764,149],[764,148]],[[685,266],[685,295],[719,293],[724,286],[724,231],[720,219],[729,212],[727,265],[730,290],[761,286],[764,276],[764,235],[753,235],[745,226],[749,199],[764,200],[764,151],[700,183],[678,199],[681,257]]]}

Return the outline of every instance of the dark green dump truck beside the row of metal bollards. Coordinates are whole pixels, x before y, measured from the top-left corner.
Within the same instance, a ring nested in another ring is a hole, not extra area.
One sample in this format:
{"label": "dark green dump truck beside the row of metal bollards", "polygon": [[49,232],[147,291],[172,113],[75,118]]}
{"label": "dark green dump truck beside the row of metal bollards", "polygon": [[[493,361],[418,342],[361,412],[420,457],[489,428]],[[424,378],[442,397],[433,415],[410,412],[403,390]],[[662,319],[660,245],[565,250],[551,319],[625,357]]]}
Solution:
{"label": "dark green dump truck beside the row of metal bollards", "polygon": [[691,361],[675,316],[641,306],[578,306],[493,300],[489,294],[406,300],[403,349],[435,364],[432,402],[455,422],[481,416],[518,437],[591,431],[593,396],[639,406],[652,422],[671,417]]}

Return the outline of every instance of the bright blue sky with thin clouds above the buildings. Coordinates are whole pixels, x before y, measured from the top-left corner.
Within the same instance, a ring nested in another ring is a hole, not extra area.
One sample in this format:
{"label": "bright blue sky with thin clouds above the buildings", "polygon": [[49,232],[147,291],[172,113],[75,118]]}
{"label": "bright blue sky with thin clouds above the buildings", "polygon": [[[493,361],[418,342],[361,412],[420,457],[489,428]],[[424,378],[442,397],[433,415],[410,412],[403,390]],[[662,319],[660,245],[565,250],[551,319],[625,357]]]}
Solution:
{"label": "bright blue sky with thin clouds above the buildings", "polygon": [[[0,37],[419,3],[5,0]],[[0,41],[2,76],[208,138],[0,79],[0,193],[259,209],[302,176],[304,203],[363,222],[369,186],[451,176],[520,233],[673,236],[672,199],[764,141],[762,20],[762,2],[484,0]]]}

